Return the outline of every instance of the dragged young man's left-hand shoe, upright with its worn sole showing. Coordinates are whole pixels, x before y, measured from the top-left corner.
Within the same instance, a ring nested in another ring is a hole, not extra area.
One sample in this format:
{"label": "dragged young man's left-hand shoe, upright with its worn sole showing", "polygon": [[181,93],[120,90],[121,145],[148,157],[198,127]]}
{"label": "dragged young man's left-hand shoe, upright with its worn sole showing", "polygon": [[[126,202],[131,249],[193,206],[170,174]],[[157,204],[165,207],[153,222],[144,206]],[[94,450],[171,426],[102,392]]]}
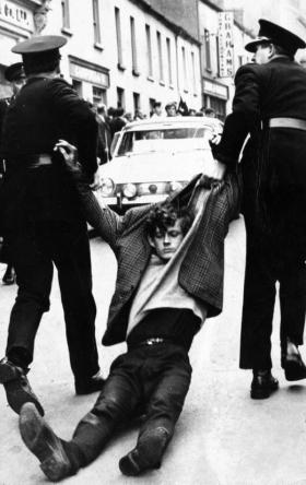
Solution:
{"label": "dragged young man's left-hand shoe, upright with its worn sole showing", "polygon": [[33,403],[26,403],[20,412],[20,433],[25,446],[40,461],[40,469],[52,482],[74,474],[60,438],[39,416]]}

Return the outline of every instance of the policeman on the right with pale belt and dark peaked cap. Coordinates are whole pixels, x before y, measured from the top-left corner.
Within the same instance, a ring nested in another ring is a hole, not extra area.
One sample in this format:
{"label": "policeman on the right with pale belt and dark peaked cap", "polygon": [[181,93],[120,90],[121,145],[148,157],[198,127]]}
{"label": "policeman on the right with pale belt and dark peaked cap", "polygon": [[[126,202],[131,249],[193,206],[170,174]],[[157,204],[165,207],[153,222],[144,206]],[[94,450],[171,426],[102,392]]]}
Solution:
{"label": "policeman on the right with pale belt and dark peaked cap", "polygon": [[287,380],[306,377],[298,352],[306,309],[306,71],[294,61],[302,38],[267,20],[246,49],[256,63],[238,69],[233,113],[215,158],[242,169],[247,256],[240,367],[252,369],[251,398],[278,389],[271,368],[275,283],[280,283],[281,364]]}

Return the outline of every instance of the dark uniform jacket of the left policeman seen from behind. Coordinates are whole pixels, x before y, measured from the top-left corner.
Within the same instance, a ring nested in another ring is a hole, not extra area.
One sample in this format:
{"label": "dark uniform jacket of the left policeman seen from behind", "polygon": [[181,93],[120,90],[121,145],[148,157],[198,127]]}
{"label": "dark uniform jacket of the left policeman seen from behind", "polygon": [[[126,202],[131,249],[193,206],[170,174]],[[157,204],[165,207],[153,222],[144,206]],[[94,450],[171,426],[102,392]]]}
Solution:
{"label": "dark uniform jacket of the left policeman seen from behind", "polygon": [[[87,104],[61,79],[33,78],[8,109],[2,154],[7,175],[1,200],[1,222],[14,229],[28,217],[80,221],[78,194],[54,152],[59,139],[78,146],[89,179],[97,169],[97,123]],[[28,169],[38,154],[52,156],[52,165]]]}

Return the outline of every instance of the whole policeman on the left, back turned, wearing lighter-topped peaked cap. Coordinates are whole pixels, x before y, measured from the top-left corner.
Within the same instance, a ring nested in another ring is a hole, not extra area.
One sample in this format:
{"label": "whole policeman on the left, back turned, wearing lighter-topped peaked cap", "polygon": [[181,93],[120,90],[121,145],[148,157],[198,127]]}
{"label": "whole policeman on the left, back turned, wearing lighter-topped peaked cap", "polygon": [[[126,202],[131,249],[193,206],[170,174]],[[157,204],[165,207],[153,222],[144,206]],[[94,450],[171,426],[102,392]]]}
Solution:
{"label": "whole policeman on the left, back turned, wearing lighter-topped peaked cap", "polygon": [[87,180],[96,187],[96,120],[87,104],[60,78],[59,48],[66,42],[60,36],[39,36],[12,49],[22,55],[27,82],[11,104],[3,128],[7,174],[0,210],[19,291],[0,382],[16,413],[26,401],[44,413],[26,372],[40,319],[49,309],[54,263],[75,392],[97,391],[104,382],[95,341],[86,223],[60,154],[54,151],[59,139],[76,145]]}

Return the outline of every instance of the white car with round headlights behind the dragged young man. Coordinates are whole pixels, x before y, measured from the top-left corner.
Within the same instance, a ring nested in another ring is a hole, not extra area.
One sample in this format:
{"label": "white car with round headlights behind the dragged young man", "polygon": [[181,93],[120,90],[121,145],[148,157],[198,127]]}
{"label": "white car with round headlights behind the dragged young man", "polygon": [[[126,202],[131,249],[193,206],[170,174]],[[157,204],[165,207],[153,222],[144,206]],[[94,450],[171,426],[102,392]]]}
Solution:
{"label": "white car with round headlights behind the dragged young man", "polygon": [[209,117],[148,119],[116,133],[113,159],[101,166],[102,204],[118,212],[163,201],[197,174],[221,179],[223,166],[211,154],[209,140],[222,123]]}

